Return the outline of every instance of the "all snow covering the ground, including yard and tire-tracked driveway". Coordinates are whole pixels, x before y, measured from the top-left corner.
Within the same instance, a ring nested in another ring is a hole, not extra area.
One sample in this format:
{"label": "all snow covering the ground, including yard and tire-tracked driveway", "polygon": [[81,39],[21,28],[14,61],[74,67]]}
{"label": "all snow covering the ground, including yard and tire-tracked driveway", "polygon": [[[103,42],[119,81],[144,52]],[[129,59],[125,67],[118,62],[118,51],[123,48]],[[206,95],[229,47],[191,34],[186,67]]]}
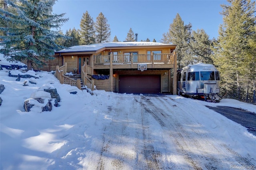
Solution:
{"label": "all snow covering the ground, including yard and tire-tracked driveway", "polygon": [[[99,90],[90,95],[50,72],[30,71],[39,79],[16,81],[8,71],[0,70],[0,170],[256,168],[256,136],[205,107],[255,112],[255,105]],[[36,84],[23,86],[30,80]],[[57,89],[60,106],[25,112],[26,99],[48,98],[38,92],[44,88]]]}

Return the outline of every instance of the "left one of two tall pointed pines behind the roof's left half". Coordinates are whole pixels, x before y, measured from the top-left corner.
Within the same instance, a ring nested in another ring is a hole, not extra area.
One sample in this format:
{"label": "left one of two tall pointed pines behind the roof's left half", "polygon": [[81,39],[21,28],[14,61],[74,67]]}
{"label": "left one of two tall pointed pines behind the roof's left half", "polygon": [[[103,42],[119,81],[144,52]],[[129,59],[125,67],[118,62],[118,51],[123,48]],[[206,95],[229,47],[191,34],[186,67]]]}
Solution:
{"label": "left one of two tall pointed pines behind the roof's left half", "polygon": [[95,43],[95,30],[94,30],[94,21],[93,18],[90,16],[88,11],[86,11],[82,19],[80,21],[80,44],[81,45],[88,45]]}

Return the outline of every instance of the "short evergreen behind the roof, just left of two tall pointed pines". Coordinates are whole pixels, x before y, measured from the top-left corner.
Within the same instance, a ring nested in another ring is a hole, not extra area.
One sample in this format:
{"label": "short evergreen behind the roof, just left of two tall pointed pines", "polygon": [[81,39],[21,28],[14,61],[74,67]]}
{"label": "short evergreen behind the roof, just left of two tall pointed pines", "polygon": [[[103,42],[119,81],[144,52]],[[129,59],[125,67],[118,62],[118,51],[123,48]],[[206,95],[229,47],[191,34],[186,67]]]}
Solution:
{"label": "short evergreen behind the roof, just left of two tall pointed pines", "polygon": [[79,45],[80,36],[79,36],[78,30],[76,30],[75,28],[73,28],[72,30],[71,29],[67,30],[65,36],[71,37],[70,39],[64,42],[63,45],[65,47],[72,47],[75,45]]}

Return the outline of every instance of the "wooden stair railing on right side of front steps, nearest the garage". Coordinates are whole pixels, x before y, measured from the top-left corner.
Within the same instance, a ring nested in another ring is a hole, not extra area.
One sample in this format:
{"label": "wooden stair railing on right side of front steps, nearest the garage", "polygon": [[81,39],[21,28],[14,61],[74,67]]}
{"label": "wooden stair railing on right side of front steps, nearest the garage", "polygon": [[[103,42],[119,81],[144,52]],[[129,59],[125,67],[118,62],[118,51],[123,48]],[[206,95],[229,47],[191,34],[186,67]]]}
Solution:
{"label": "wooden stair railing on right side of front steps, nearest the garage", "polygon": [[84,64],[82,66],[82,71],[81,71],[81,78],[84,83],[84,85],[87,86],[88,89],[94,90],[94,80],[91,80],[87,77],[87,75],[92,75],[93,70],[90,65]]}

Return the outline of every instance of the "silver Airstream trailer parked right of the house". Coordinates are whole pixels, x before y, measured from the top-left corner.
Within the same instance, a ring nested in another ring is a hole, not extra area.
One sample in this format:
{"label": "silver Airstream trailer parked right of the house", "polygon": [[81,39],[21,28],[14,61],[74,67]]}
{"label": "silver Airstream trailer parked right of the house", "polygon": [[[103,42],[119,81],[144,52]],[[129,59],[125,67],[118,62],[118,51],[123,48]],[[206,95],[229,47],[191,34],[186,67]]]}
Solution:
{"label": "silver Airstream trailer parked right of the house", "polygon": [[217,99],[220,93],[220,74],[211,64],[187,65],[177,71],[177,94]]}

